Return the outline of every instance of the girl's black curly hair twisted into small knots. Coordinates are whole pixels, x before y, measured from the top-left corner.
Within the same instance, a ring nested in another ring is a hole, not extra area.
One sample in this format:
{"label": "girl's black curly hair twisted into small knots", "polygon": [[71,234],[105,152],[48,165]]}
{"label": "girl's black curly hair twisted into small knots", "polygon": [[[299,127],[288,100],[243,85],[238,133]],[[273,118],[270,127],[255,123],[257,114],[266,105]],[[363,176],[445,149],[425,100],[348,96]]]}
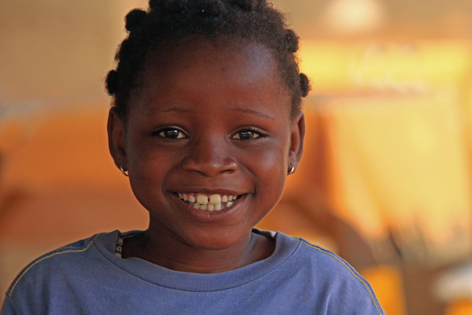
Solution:
{"label": "girl's black curly hair twisted into small knots", "polygon": [[292,117],[311,88],[298,69],[299,37],[288,28],[285,16],[265,0],[150,0],[147,11],[134,9],[126,15],[126,30],[128,37],[115,55],[117,67],[106,78],[113,108],[122,117],[126,117],[130,92],[139,85],[147,54],[194,35],[239,37],[267,47],[282,82],[292,92]]}

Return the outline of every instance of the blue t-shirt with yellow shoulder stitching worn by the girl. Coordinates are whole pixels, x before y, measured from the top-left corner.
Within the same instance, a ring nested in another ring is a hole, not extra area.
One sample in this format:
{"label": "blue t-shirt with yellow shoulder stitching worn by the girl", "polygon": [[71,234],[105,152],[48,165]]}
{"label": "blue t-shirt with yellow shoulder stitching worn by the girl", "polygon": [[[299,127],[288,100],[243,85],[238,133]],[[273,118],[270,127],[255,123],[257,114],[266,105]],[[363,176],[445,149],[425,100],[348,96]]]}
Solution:
{"label": "blue t-shirt with yellow shoulder stitching worn by the girl", "polygon": [[177,272],[115,255],[118,230],[43,255],[7,291],[0,315],[384,315],[370,285],[337,255],[275,238],[267,259],[221,273]]}

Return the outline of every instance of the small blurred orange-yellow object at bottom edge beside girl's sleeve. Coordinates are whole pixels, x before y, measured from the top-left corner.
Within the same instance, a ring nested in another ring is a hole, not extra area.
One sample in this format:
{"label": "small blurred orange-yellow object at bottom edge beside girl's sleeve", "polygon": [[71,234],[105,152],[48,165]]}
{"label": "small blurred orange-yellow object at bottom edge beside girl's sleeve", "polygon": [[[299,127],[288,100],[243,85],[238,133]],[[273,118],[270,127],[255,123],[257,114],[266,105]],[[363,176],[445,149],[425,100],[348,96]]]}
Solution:
{"label": "small blurred orange-yellow object at bottom edge beside girl's sleeve", "polygon": [[388,315],[406,314],[401,275],[396,268],[372,267],[361,272],[361,275],[371,284],[385,313]]}

